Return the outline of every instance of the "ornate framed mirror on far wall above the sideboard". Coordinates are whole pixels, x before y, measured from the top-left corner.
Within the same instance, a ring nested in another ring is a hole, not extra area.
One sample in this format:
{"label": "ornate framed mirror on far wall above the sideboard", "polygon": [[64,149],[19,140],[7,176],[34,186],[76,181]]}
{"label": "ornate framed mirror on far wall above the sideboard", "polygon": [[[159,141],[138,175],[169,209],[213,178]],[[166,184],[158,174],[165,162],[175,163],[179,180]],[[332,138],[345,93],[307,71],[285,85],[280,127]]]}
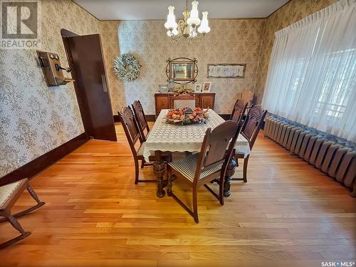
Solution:
{"label": "ornate framed mirror on far wall above the sideboard", "polygon": [[174,83],[195,83],[197,81],[198,66],[197,59],[190,58],[168,58],[166,75]]}

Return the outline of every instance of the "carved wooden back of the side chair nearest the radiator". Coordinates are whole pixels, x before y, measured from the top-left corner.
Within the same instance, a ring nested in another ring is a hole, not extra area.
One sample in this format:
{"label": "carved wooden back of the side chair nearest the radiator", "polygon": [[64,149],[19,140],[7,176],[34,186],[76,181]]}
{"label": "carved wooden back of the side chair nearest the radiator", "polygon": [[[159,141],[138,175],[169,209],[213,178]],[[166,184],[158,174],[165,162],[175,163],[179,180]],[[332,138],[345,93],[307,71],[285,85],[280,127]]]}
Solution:
{"label": "carved wooden back of the side chair nearest the radiator", "polygon": [[253,105],[252,108],[248,111],[244,126],[241,130],[241,135],[243,135],[252,149],[253,144],[256,141],[258,132],[261,129],[263,120],[265,119],[267,110],[263,112],[261,105]]}

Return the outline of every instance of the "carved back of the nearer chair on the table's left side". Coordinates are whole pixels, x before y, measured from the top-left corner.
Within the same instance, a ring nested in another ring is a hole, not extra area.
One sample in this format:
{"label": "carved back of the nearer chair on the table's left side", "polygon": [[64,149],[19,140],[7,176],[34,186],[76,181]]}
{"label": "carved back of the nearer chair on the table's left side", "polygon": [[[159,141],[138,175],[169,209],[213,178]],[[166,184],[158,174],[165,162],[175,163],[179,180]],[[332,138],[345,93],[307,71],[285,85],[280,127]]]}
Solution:
{"label": "carved back of the nearer chair on the table's left side", "polygon": [[134,155],[134,157],[137,157],[137,150],[135,149],[135,144],[137,140],[140,140],[141,143],[143,142],[143,140],[137,122],[135,120],[135,116],[129,106],[122,108],[121,112],[117,113],[120,117],[120,121],[122,127],[124,128],[125,135],[127,137],[127,141],[129,142],[132,154]]}

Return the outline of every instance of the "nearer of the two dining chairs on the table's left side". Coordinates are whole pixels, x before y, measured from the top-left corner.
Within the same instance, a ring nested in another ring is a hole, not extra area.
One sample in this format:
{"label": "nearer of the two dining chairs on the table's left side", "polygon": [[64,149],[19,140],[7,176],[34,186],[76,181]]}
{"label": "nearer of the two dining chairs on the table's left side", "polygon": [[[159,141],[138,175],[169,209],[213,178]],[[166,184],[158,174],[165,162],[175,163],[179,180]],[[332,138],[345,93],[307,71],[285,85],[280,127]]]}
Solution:
{"label": "nearer of the two dining chairs on the table's left side", "polygon": [[[132,156],[135,161],[135,184],[138,182],[156,182],[156,180],[140,180],[139,179],[139,161],[141,161],[141,168],[145,166],[152,165],[152,162],[155,160],[155,157],[150,156],[150,162],[145,161],[143,157],[143,152],[145,150],[145,142],[142,140],[139,127],[135,120],[135,116],[129,106],[121,109],[121,112],[117,112],[120,117],[120,122],[124,128],[127,141],[129,142]],[[140,147],[136,150],[135,145],[137,141],[140,141]],[[172,158],[170,153],[162,153],[162,159],[166,162],[169,162]]]}

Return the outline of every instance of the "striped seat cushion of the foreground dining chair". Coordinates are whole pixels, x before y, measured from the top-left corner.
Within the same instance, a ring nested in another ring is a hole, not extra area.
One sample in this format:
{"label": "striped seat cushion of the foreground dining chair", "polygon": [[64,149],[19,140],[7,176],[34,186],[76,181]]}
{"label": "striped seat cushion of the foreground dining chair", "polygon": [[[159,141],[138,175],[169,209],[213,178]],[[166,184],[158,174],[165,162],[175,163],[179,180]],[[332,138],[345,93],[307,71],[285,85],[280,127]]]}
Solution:
{"label": "striped seat cushion of the foreground dining chair", "polygon": [[[191,155],[189,157],[184,157],[183,159],[175,160],[173,162],[169,162],[169,166],[172,167],[172,169],[176,170],[180,174],[182,174],[184,177],[189,179],[190,181],[194,181],[194,175],[197,170],[197,164],[199,160],[199,155],[200,153],[196,153],[194,155]],[[201,172],[200,174],[200,179],[207,177],[209,174],[213,174],[214,172],[219,172],[221,170],[222,164],[213,167],[211,169],[206,169]]]}

